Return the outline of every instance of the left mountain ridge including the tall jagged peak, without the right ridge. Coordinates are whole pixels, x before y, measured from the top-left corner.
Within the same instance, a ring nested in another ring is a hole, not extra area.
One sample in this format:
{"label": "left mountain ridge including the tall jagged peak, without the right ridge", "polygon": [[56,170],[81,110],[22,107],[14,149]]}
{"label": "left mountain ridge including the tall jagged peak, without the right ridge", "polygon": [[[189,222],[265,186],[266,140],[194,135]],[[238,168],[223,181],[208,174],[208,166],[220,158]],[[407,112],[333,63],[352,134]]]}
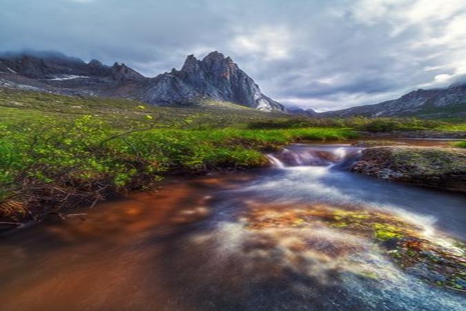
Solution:
{"label": "left mountain ridge including the tall jagged peak, without the right ridge", "polygon": [[154,105],[232,102],[262,111],[284,111],[258,84],[222,53],[189,55],[180,70],[144,77],[125,64],[86,63],[60,53],[0,55],[0,86],[64,95],[124,97]]}

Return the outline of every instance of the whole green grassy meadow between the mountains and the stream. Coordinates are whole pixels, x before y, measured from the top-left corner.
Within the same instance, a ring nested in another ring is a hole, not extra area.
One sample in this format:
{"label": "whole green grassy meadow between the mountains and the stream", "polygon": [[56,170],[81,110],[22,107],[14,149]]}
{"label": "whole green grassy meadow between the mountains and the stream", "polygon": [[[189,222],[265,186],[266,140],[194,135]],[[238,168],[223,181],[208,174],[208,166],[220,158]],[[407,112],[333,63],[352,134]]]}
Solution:
{"label": "whole green grassy meadow between the mountains and the stream", "polygon": [[156,107],[0,88],[0,222],[150,189],[170,173],[262,167],[265,151],[299,140],[464,129],[416,119],[311,119],[231,105]]}

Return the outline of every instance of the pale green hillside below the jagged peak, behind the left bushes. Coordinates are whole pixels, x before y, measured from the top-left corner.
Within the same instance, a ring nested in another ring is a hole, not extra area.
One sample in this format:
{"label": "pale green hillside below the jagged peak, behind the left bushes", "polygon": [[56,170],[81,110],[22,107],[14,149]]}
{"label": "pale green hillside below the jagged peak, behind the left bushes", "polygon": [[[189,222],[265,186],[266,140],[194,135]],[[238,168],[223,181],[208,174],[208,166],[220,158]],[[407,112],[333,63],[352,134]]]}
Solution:
{"label": "pale green hillside below the jagged peak, behind the left bushes", "polygon": [[[237,109],[231,109],[235,106]],[[75,120],[92,115],[115,126],[152,123],[159,128],[219,129],[245,127],[258,120],[286,120],[290,115],[264,113],[231,104],[202,102],[197,106],[151,106],[136,100],[104,97],[72,97],[34,91],[0,88],[0,122],[30,122],[48,116],[58,120]]]}

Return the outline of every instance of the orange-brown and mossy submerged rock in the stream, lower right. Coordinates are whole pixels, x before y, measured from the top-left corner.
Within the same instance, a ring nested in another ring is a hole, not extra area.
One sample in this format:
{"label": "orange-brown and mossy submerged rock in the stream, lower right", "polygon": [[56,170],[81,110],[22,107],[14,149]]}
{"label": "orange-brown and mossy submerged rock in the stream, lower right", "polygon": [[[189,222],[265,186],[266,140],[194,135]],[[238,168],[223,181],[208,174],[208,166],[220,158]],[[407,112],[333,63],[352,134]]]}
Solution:
{"label": "orange-brown and mossy submerged rock in the stream, lower right", "polygon": [[[247,224],[247,230],[258,234],[273,234],[273,243],[269,243],[267,248],[276,247],[279,235],[292,233],[284,238],[284,241],[291,243],[287,254],[302,256],[299,260],[293,260],[293,263],[302,263],[304,257],[308,262],[309,256],[318,260],[328,258],[329,261],[343,261],[344,265],[340,269],[344,272],[374,279],[373,272],[380,271],[371,270],[369,258],[357,261],[364,264],[356,270],[353,259],[361,251],[360,247],[371,248],[370,245],[376,245],[371,249],[396,263],[405,273],[432,285],[466,290],[463,243],[442,234],[428,234],[424,225],[396,214],[329,205],[256,209],[255,204],[250,202],[242,221]],[[302,232],[307,232],[305,238],[302,241],[296,240]],[[321,236],[318,232],[324,234]],[[350,239],[350,236],[353,238]],[[363,246],[353,245],[354,241],[370,242],[362,243],[365,244]],[[264,247],[262,245],[259,248]]]}

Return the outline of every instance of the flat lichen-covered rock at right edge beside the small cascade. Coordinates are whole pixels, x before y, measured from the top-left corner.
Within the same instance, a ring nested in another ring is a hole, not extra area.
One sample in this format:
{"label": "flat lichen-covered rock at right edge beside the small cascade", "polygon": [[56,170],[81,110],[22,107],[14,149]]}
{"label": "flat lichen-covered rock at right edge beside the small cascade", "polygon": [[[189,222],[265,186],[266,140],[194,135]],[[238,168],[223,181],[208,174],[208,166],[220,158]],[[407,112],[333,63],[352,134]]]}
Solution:
{"label": "flat lichen-covered rock at right edge beside the small cascade", "polygon": [[351,171],[423,187],[466,192],[466,150],[391,146],[362,151]]}

